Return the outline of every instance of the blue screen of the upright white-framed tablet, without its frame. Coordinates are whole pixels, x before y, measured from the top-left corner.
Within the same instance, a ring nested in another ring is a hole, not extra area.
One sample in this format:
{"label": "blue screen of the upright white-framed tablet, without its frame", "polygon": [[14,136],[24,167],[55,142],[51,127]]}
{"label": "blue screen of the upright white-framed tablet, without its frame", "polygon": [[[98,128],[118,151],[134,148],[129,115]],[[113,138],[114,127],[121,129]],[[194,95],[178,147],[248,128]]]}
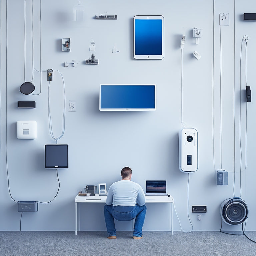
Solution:
{"label": "blue screen of the upright white-framed tablet, without its frame", "polygon": [[162,20],[135,19],[135,55],[162,55]]}

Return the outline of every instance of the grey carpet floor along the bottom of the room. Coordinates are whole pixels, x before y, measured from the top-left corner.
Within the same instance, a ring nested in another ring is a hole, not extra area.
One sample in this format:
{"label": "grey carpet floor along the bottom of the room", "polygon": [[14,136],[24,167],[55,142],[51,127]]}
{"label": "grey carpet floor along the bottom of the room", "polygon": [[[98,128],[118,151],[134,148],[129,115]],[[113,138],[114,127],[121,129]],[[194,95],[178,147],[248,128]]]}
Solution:
{"label": "grey carpet floor along the bottom of the room", "polygon": [[[131,231],[0,231],[2,256],[253,256],[256,243],[244,235],[219,231],[144,231],[143,239],[132,239]],[[256,231],[246,235],[256,240]]]}

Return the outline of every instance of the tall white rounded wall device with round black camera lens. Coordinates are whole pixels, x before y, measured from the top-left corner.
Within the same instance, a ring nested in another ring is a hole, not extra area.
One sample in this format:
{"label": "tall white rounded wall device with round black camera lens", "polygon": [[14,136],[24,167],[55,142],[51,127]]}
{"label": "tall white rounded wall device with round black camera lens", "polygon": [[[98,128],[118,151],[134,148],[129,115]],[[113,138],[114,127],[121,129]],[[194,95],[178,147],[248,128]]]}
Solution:
{"label": "tall white rounded wall device with round black camera lens", "polygon": [[198,169],[197,130],[183,128],[179,131],[179,169],[195,172]]}

